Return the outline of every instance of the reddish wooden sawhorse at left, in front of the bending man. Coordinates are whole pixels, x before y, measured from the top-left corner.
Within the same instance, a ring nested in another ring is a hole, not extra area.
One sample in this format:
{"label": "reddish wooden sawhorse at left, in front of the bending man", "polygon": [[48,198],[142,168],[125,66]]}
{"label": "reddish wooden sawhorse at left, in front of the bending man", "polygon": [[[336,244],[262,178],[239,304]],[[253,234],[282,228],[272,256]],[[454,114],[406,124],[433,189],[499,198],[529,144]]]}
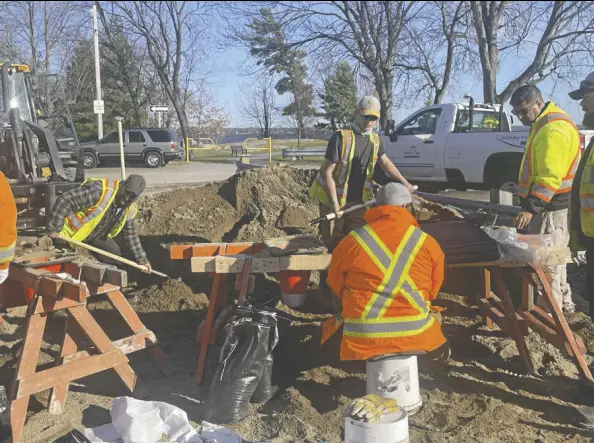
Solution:
{"label": "reddish wooden sawhorse at left, in front of the bending man", "polygon": [[[72,280],[47,270],[11,265],[10,283],[3,291],[14,293],[32,289],[35,294],[28,304],[25,336],[11,388],[11,425],[15,442],[22,437],[31,395],[51,389],[49,412],[61,414],[70,382],[112,368],[126,388],[133,392],[139,381],[126,355],[145,348],[164,373],[174,372],[157,346],[154,333],[146,329],[119,286],[78,281],[80,268],[73,263],[64,264],[61,271],[66,270],[71,272]],[[100,294],[107,296],[132,335],[112,342],[91,316],[87,299]],[[60,358],[54,367],[37,372],[48,314],[56,311],[67,313]],[[91,348],[78,349],[82,337],[86,337]]]}

